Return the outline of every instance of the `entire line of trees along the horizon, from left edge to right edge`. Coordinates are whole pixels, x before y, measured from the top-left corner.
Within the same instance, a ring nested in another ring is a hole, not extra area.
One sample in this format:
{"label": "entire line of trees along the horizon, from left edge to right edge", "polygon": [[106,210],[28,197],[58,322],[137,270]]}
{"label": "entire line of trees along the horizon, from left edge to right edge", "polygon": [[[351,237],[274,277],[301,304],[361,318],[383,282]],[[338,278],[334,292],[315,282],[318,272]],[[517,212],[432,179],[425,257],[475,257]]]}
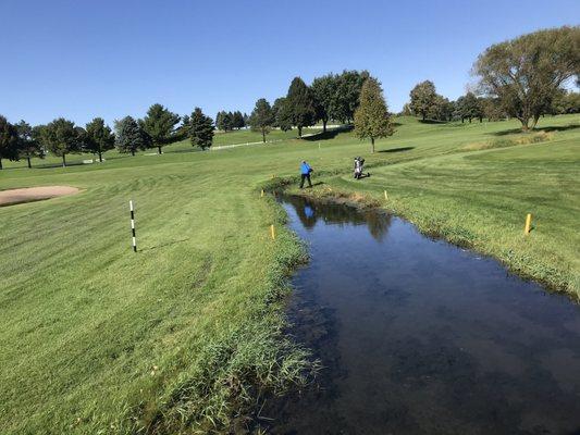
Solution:
{"label": "entire line of trees along the horizon, from left edge to right edge", "polygon": [[[423,121],[483,121],[515,117],[522,130],[534,128],[545,114],[579,113],[580,96],[570,91],[580,85],[580,26],[564,26],[522,35],[496,44],[479,55],[472,75],[478,83],[456,101],[439,95],[435,85],[424,80],[410,91],[403,114]],[[74,152],[102,154],[116,147],[120,152],[135,154],[139,150],[162,148],[175,140],[189,138],[194,147],[211,147],[215,126],[229,132],[247,125],[266,135],[272,128],[303,129],[334,120],[353,124],[355,134],[371,140],[393,134],[381,85],[368,71],[343,71],[316,77],[308,86],[300,77],[289,84],[285,96],[273,104],[260,98],[249,116],[239,111],[221,111],[213,120],[196,108],[190,115],[180,116],[161,104],[153,104],[143,120],[125,116],[111,129],[100,117],[85,127],[57,119],[47,125],[32,127],[26,122],[11,124],[0,115],[0,169],[2,159],[42,158],[51,152],[62,158]]]}

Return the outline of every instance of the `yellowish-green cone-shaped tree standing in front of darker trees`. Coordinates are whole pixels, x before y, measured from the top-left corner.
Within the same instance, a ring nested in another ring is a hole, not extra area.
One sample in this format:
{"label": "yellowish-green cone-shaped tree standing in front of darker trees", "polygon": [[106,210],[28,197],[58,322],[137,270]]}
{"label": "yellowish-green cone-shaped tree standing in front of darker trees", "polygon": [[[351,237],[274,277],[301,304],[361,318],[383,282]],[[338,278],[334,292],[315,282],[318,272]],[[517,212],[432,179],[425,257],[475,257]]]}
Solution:
{"label": "yellowish-green cone-shaped tree standing in front of darker trees", "polygon": [[369,77],[362,85],[360,104],[355,112],[355,135],[360,139],[371,139],[371,151],[374,152],[374,139],[393,133],[381,85],[377,78]]}

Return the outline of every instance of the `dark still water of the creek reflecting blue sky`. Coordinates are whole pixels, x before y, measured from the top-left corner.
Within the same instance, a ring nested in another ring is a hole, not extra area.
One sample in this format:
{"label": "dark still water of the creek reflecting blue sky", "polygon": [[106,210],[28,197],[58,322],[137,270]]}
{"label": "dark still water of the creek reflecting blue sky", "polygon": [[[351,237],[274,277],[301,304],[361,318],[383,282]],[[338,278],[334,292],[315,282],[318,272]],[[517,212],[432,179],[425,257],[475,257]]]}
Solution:
{"label": "dark still water of the creek reflecting blue sky", "polygon": [[580,309],[396,217],[285,198],[292,333],[325,369],[274,434],[580,434]]}

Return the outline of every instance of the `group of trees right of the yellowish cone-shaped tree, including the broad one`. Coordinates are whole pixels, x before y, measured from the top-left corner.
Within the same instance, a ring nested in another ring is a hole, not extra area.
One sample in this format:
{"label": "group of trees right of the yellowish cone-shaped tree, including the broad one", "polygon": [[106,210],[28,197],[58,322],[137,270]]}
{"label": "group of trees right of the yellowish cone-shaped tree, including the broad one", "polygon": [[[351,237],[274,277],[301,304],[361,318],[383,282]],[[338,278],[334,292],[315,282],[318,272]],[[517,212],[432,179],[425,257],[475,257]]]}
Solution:
{"label": "group of trees right of the yellowish cone-shaped tree, including the broad one", "polygon": [[[449,101],[432,82],[410,92],[404,114],[423,120],[499,120],[515,117],[522,130],[534,128],[541,116],[580,112],[580,26],[539,30],[489,47],[473,64],[474,92]],[[476,94],[478,96],[476,96]]]}

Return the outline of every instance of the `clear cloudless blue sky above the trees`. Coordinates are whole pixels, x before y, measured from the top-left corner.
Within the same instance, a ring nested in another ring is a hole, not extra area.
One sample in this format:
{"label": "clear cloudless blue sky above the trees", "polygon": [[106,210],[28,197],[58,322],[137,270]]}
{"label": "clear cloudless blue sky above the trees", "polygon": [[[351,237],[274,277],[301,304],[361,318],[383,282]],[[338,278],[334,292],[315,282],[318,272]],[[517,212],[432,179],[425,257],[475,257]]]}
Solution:
{"label": "clear cloudless blue sky above the trees", "polygon": [[369,70],[398,111],[418,82],[455,99],[488,46],[564,24],[580,24],[580,0],[0,0],[0,113],[249,113],[296,75],[344,69]]}

